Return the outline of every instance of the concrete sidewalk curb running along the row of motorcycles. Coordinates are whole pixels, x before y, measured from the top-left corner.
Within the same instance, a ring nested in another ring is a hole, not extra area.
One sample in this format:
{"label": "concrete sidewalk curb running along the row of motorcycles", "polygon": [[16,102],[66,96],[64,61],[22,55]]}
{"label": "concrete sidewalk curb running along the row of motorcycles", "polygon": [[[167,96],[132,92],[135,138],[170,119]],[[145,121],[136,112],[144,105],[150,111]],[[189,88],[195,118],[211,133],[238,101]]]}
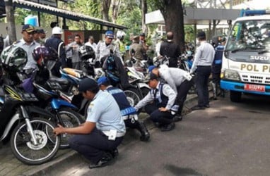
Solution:
{"label": "concrete sidewalk curb running along the row of motorcycles", "polygon": [[[189,94],[187,97],[187,100],[184,103],[182,114],[186,115],[187,113],[189,113],[191,111],[192,106],[196,104],[196,101],[197,101],[196,94]],[[147,115],[144,115],[144,116],[147,116]],[[151,122],[148,116],[143,119],[143,122],[145,122],[148,130],[151,131],[153,128],[155,128],[155,125],[153,125],[153,122]],[[127,139],[127,140],[133,141],[133,139],[132,140]],[[82,162],[81,155],[79,155],[76,151],[68,151],[67,153],[65,153],[63,156],[60,156],[59,158],[54,158],[52,161],[48,163],[37,165],[34,169],[30,169],[27,172],[23,172],[20,176],[47,175],[47,172],[49,172],[49,170],[55,170],[55,169],[59,170],[61,168],[67,168],[67,167],[70,168],[81,162]]]}

